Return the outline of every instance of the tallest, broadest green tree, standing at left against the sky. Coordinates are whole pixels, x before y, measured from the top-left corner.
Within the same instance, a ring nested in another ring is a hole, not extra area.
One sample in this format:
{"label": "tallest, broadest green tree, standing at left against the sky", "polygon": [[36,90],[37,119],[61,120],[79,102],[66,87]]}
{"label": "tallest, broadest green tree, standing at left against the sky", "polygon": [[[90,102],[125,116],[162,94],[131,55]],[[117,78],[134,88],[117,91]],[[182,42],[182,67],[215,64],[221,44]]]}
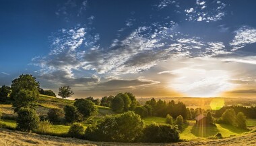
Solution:
{"label": "tallest, broadest green tree, standing at left against the sky", "polygon": [[11,98],[14,100],[12,105],[17,112],[22,107],[34,109],[37,105],[39,96],[39,82],[30,74],[22,74],[15,78],[11,84]]}

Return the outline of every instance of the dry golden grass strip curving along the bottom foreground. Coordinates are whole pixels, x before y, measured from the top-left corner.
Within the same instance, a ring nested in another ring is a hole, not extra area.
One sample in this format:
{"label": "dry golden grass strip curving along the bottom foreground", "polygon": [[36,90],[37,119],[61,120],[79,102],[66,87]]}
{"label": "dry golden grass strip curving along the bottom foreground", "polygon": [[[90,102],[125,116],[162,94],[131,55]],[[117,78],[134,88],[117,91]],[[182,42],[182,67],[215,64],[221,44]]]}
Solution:
{"label": "dry golden grass strip curving along the bottom foreground", "polygon": [[256,145],[256,133],[218,140],[200,140],[180,143],[106,143],[80,139],[52,137],[0,129],[0,145]]}

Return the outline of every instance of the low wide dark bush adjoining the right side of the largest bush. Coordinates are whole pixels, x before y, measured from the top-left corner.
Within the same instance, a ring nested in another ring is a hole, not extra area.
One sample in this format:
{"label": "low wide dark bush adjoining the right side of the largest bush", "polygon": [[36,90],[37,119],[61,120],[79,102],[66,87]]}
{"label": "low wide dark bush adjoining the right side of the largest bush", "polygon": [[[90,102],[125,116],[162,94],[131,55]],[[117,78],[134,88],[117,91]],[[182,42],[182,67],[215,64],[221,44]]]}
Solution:
{"label": "low wide dark bush adjoining the right side of the largest bush", "polygon": [[170,143],[179,141],[177,125],[158,125],[152,123],[143,131],[143,141],[148,143]]}

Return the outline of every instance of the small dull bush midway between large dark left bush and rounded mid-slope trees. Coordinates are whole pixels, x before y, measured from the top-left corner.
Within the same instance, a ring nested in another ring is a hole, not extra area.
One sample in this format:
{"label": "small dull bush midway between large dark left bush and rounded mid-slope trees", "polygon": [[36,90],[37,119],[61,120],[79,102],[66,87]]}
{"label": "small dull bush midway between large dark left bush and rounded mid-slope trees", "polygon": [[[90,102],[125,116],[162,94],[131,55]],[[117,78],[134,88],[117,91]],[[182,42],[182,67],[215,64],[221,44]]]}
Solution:
{"label": "small dull bush midway between large dark left bush and rounded mid-slope trees", "polygon": [[51,123],[61,123],[61,119],[64,114],[63,111],[59,108],[51,108],[51,110],[47,113],[48,119]]}

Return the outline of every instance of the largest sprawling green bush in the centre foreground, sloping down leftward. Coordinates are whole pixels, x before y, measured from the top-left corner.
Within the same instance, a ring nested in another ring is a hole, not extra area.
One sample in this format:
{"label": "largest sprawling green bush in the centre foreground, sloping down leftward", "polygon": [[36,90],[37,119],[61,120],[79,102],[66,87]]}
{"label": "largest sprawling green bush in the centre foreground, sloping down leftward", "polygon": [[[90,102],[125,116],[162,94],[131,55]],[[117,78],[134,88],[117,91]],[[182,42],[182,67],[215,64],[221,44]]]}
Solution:
{"label": "largest sprawling green bush in the centre foreground, sloping down leftward", "polygon": [[91,141],[136,141],[143,131],[143,121],[139,115],[129,111],[107,116],[102,123],[86,129],[86,139]]}

